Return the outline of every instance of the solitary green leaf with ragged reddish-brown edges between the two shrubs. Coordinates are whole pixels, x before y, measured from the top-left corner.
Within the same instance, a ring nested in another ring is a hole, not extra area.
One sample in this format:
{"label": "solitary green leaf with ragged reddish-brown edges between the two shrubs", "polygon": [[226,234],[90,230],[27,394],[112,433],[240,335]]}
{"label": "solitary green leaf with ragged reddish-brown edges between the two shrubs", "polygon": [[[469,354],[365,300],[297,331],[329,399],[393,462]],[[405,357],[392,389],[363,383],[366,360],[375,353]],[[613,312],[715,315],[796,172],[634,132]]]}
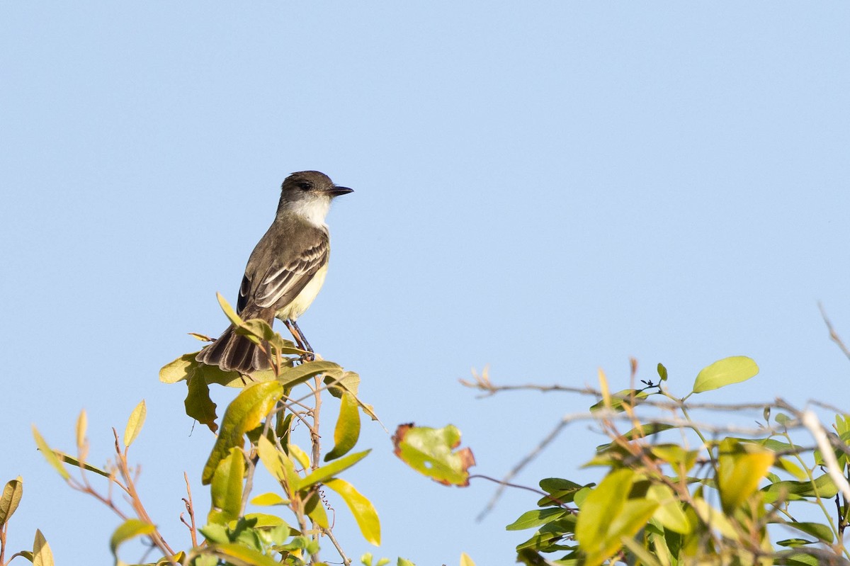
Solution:
{"label": "solitary green leaf with ragged reddish-brown edges between the two shrubs", "polygon": [[452,452],[461,443],[454,425],[443,428],[400,425],[393,435],[394,454],[416,472],[444,485],[469,485],[469,467],[475,465],[472,450]]}

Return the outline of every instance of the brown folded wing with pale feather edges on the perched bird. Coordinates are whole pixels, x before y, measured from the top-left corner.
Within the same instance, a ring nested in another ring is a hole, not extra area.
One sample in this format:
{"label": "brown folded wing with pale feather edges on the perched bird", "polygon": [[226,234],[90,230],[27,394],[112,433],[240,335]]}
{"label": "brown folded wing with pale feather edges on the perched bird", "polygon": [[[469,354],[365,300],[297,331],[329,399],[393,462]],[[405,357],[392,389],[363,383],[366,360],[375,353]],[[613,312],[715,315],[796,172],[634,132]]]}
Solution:
{"label": "brown folded wing with pale feather edges on the perched bird", "polygon": [[[249,304],[275,311],[292,303],[319,269],[327,263],[330,246],[327,234],[318,232],[312,245],[296,253],[276,254],[263,273],[246,269],[239,289],[238,312]],[[249,266],[250,268],[250,266]]]}

